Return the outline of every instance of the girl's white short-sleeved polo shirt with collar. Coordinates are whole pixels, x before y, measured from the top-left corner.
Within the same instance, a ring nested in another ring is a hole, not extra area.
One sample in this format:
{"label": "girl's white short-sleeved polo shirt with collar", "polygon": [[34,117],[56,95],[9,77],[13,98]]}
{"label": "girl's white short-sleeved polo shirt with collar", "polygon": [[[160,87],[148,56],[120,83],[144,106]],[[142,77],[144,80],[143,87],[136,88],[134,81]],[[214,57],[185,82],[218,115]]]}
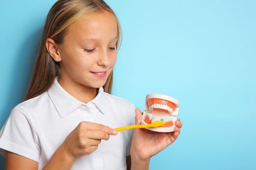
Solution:
{"label": "girl's white short-sleeved polo shirt with collar", "polygon": [[[98,95],[87,104],[68,94],[55,80],[42,95],[13,108],[0,131],[0,153],[14,152],[38,162],[41,170],[67,135],[81,121],[111,128],[135,123],[132,103],[99,88]],[[118,132],[90,155],[76,160],[72,170],[126,170],[130,155],[132,130]]]}

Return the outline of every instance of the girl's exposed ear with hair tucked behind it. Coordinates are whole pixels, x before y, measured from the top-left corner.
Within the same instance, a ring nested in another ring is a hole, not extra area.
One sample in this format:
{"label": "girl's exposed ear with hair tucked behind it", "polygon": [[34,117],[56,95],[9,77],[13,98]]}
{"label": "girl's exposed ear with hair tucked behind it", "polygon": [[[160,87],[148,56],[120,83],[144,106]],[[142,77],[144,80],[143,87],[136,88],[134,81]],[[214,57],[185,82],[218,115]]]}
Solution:
{"label": "girl's exposed ear with hair tucked behind it", "polygon": [[61,55],[58,50],[57,44],[52,40],[52,38],[48,38],[45,43],[46,49],[48,53],[52,56],[53,60],[56,62],[61,61]]}

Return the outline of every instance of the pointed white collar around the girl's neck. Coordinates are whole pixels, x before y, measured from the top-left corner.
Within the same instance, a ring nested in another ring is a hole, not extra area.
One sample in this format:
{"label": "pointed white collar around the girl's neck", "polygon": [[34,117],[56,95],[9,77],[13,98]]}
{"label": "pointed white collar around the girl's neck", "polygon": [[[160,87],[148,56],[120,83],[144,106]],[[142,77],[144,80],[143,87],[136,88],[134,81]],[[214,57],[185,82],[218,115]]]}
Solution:
{"label": "pointed white collar around the girl's neck", "polygon": [[104,90],[103,88],[99,88],[98,95],[87,104],[79,101],[78,99],[74,98],[72,95],[67,93],[61,85],[58,83],[57,78],[54,80],[54,84],[49,88],[48,94],[50,99],[52,100],[58,114],[61,118],[66,117],[76,108],[81,105],[84,105],[87,108],[89,106],[97,106],[102,114],[105,113],[105,97],[104,97]]}

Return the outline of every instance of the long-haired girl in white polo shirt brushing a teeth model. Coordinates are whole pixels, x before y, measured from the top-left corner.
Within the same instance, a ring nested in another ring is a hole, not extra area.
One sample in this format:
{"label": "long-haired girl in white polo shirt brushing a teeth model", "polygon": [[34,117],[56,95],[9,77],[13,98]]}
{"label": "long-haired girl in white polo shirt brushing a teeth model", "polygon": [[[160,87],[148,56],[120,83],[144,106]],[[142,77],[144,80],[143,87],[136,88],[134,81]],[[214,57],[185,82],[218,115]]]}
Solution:
{"label": "long-haired girl in white polo shirt brushing a teeth model", "polygon": [[170,133],[113,129],[141,121],[139,109],[110,95],[120,41],[117,16],[103,0],[53,5],[26,101],[0,132],[6,170],[144,170],[177,139],[180,121]]}

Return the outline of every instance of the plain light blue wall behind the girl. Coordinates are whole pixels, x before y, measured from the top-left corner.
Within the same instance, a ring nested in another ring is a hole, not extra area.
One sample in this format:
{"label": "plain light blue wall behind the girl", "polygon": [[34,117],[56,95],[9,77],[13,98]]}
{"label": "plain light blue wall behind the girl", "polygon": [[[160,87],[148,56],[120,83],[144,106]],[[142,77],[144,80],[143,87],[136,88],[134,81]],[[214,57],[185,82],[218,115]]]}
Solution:
{"label": "plain light blue wall behind the girl", "polygon": [[[54,2],[0,1],[1,127],[25,95]],[[124,35],[113,94],[141,111],[147,94],[180,101],[180,137],[151,159],[150,169],[255,170],[256,1],[106,2]]]}

